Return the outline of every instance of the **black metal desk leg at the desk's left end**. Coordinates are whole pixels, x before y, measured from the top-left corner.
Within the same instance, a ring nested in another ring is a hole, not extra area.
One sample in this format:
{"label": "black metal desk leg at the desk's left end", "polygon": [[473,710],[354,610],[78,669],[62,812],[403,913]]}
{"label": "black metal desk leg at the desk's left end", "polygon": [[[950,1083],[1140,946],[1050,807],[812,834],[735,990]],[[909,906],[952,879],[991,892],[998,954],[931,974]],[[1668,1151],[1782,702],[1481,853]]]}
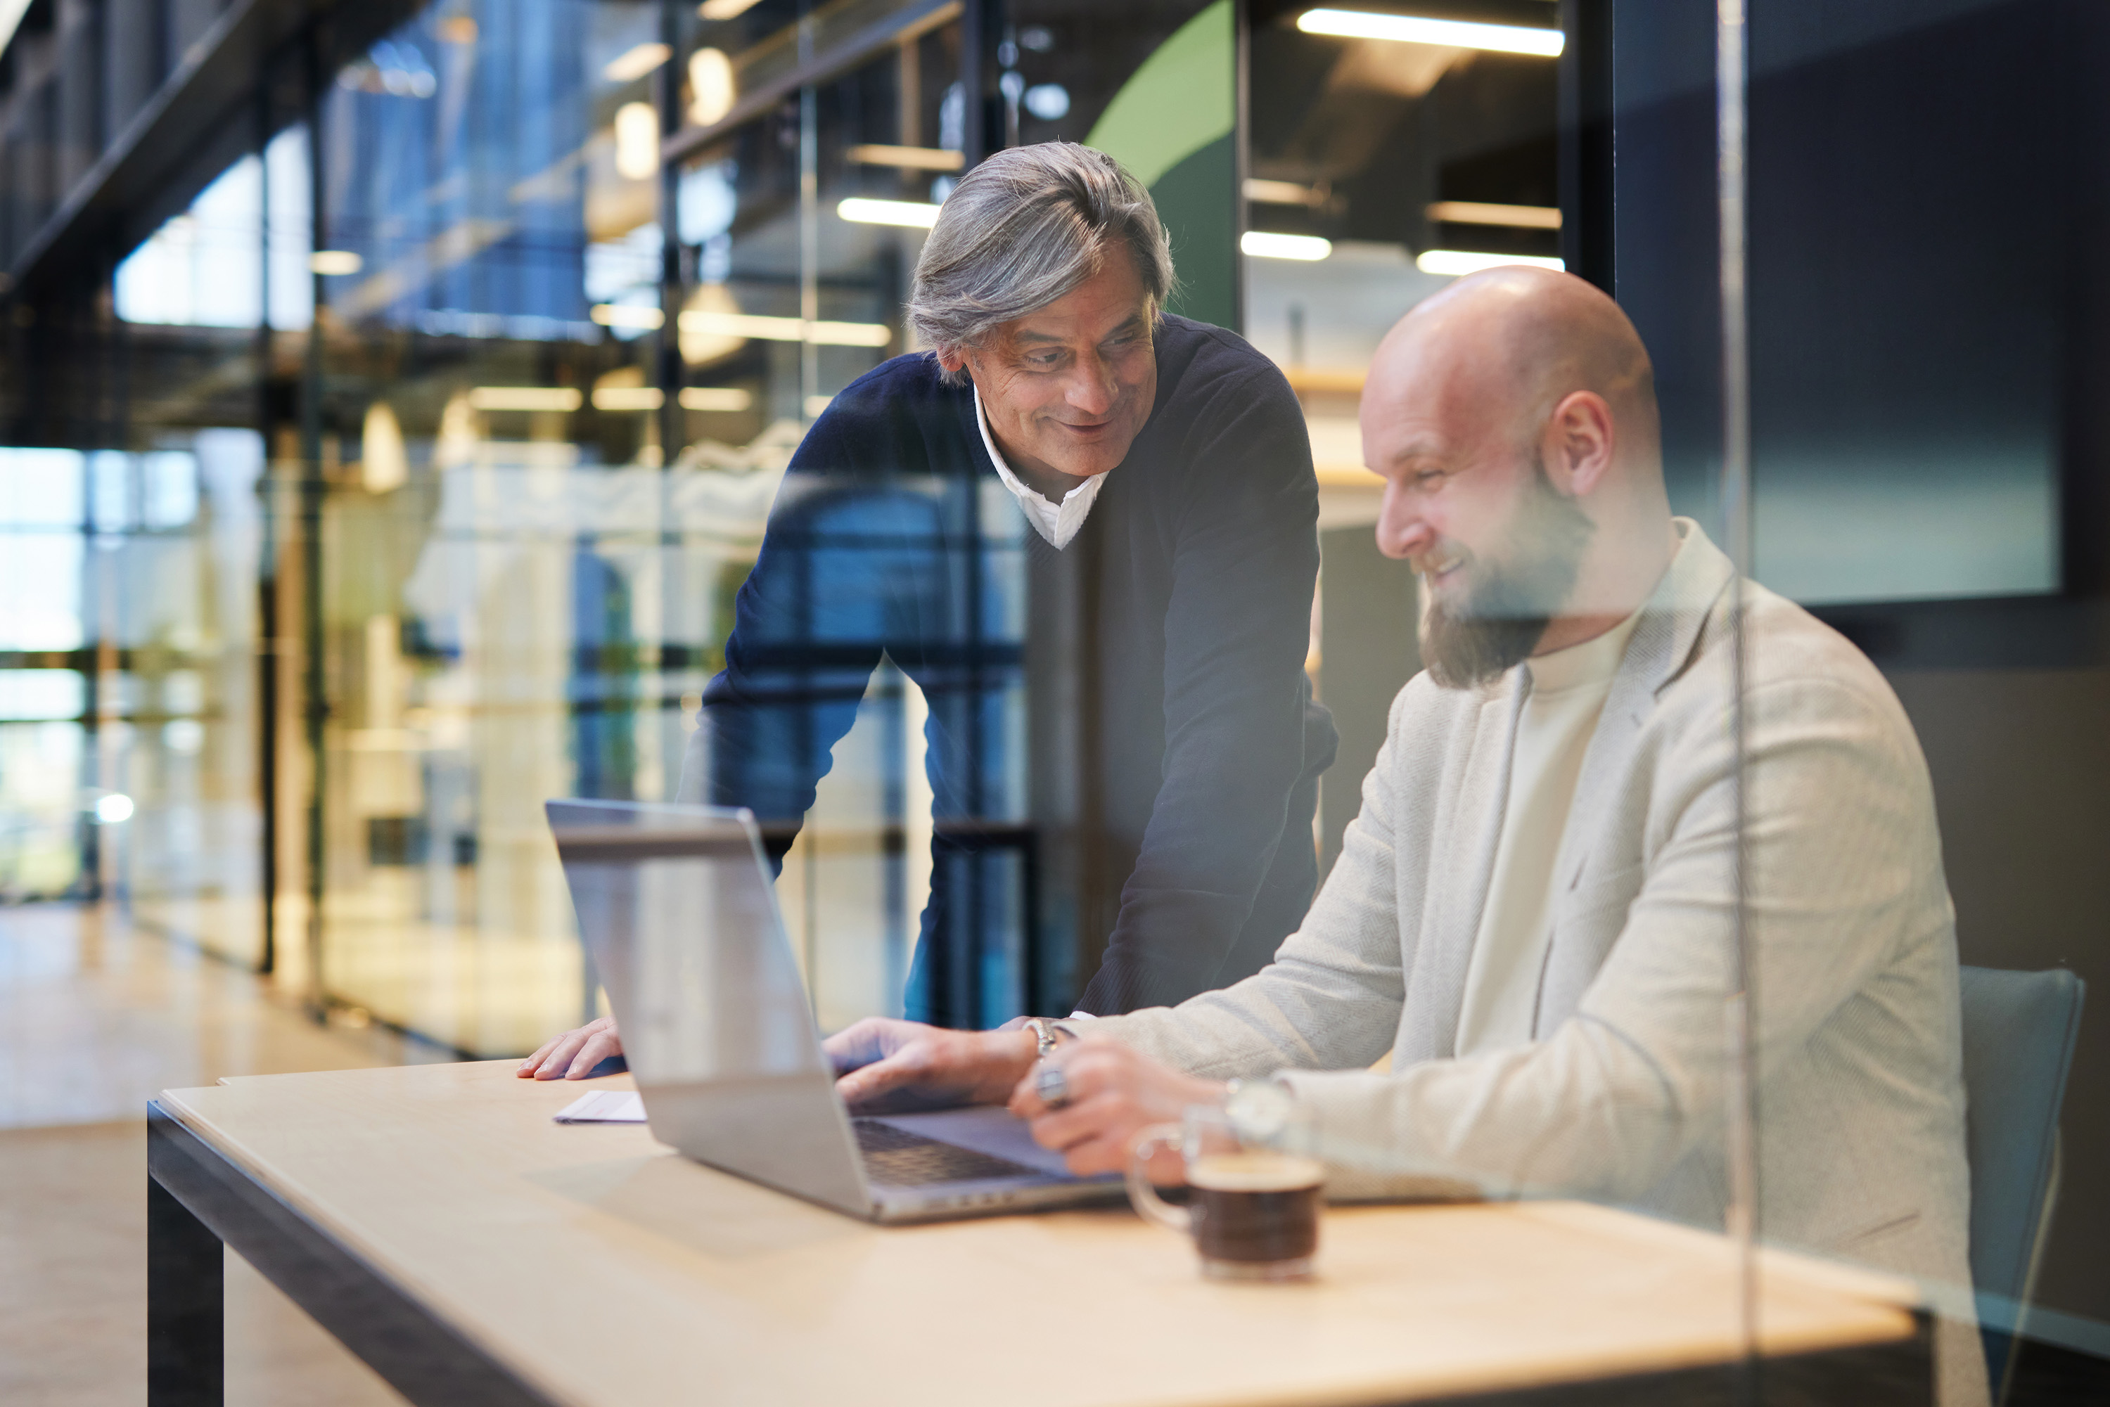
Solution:
{"label": "black metal desk leg at the desk's left end", "polygon": [[146,1401],[219,1407],[226,1369],[219,1236],[146,1179]]}

